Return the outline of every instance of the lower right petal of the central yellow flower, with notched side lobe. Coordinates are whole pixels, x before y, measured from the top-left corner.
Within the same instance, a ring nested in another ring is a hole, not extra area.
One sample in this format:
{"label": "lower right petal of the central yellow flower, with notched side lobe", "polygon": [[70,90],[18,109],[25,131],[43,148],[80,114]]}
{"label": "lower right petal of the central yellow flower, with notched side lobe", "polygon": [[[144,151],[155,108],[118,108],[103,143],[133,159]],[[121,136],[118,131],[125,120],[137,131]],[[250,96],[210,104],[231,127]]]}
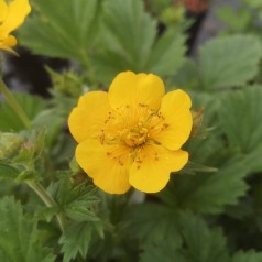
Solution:
{"label": "lower right petal of the central yellow flower, with notched side lobe", "polygon": [[179,171],[188,161],[186,151],[168,151],[150,144],[139,153],[130,168],[130,184],[145,193],[156,193],[170,181],[170,173]]}

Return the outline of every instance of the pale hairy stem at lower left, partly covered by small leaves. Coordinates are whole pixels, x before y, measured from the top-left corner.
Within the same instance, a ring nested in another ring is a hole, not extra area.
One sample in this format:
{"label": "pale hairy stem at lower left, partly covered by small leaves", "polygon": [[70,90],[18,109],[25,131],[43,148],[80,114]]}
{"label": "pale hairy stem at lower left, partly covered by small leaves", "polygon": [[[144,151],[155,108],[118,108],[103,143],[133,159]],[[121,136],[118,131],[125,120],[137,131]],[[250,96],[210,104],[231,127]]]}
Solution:
{"label": "pale hairy stem at lower left, partly covered by small leaves", "polygon": [[[39,197],[43,200],[43,203],[47,207],[57,207],[56,201],[47,194],[45,188],[39,182],[28,181],[26,183],[28,183],[29,187],[31,187],[39,195]],[[64,217],[61,214],[57,214],[56,219],[59,225],[61,231],[64,232],[65,231]]]}

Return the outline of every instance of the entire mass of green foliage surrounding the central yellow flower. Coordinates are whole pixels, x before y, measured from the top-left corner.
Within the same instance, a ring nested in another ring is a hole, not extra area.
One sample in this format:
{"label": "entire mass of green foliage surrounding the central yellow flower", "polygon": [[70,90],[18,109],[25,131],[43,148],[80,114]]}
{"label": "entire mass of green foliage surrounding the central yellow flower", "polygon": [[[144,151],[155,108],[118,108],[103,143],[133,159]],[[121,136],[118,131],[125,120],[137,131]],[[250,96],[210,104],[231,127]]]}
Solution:
{"label": "entire mass of green foliage surrounding the central yellow flower", "polygon": [[[47,68],[47,101],[15,95],[29,130],[1,103],[0,192],[22,204],[0,200],[0,260],[51,262],[56,253],[57,262],[262,261],[262,47],[254,24],[261,2],[220,9],[229,28],[197,59],[185,56],[190,20],[173,3],[32,0],[19,42],[34,54],[69,59],[70,68]],[[247,7],[258,10],[251,15]],[[195,122],[183,145],[187,166],[139,205],[132,190],[97,190],[74,159],[67,127],[79,96],[106,90],[122,70],[157,74],[167,90],[189,89],[193,109],[204,108],[203,123]]]}

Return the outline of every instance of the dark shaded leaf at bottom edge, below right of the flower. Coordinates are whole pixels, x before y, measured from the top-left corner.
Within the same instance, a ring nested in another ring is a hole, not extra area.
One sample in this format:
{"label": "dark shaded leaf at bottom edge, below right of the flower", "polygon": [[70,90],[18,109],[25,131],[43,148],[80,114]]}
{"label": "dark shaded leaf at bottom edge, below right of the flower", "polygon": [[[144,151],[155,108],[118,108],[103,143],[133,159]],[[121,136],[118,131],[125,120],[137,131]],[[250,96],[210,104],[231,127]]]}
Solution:
{"label": "dark shaded leaf at bottom edge, below right of the flower", "polygon": [[183,253],[188,262],[228,261],[226,238],[219,228],[208,228],[200,217],[190,212],[183,214],[181,222],[186,247]]}

